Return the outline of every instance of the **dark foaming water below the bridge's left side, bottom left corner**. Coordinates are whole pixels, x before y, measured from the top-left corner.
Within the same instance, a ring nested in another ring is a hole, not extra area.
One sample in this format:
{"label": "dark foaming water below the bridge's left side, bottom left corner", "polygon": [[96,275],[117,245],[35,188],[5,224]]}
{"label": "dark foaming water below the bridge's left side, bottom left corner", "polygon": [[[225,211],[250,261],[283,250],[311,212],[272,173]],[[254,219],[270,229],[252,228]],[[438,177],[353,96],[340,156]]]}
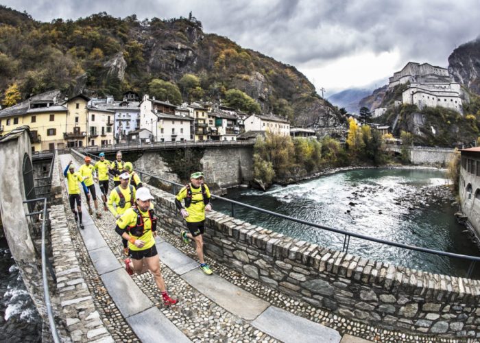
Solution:
{"label": "dark foaming water below the bridge's left side, bottom left corner", "polygon": [[42,319],[23,283],[6,239],[0,239],[1,342],[42,342]]}

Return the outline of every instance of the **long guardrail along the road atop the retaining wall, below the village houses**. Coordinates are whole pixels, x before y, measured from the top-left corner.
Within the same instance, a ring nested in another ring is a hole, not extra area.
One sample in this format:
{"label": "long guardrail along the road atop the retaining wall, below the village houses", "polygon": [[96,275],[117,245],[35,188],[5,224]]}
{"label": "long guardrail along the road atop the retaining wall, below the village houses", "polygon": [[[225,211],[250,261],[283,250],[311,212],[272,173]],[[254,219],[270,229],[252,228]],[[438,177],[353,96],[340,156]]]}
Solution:
{"label": "long guardrail along the road atop the retaining wall, below the village houses", "polygon": [[138,150],[138,149],[171,149],[172,147],[211,147],[211,146],[252,146],[254,141],[183,141],[183,142],[155,142],[155,143],[125,143],[115,145],[103,145],[101,147],[95,145],[90,147],[75,147],[75,150],[80,152],[106,152],[109,150]]}

